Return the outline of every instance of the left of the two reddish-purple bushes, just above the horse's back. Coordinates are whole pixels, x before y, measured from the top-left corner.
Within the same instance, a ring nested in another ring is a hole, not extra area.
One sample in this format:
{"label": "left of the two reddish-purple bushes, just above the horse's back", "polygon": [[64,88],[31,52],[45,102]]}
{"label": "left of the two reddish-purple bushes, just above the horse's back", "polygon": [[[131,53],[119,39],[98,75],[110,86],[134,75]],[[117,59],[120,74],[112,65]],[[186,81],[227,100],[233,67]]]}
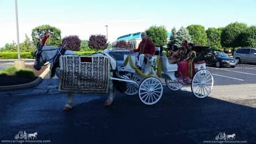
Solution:
{"label": "left of the two reddish-purple bushes, just above the horse's back", "polygon": [[62,46],[67,42],[67,45],[63,47],[67,50],[79,51],[81,46],[81,40],[78,36],[67,36],[62,39]]}

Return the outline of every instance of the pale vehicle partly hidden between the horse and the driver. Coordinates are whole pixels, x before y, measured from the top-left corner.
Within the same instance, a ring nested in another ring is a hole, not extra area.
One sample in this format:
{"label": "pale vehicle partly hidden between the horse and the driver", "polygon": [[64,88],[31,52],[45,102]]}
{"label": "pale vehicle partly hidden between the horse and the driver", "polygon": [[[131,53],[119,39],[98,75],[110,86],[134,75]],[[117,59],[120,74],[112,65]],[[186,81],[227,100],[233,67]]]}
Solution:
{"label": "pale vehicle partly hidden between the horse and the driver", "polygon": [[124,55],[133,55],[130,50],[114,47],[112,49],[105,50],[105,53],[108,53],[113,58],[115,58],[116,62],[118,63],[118,71],[119,73],[124,72],[123,62],[124,62]]}

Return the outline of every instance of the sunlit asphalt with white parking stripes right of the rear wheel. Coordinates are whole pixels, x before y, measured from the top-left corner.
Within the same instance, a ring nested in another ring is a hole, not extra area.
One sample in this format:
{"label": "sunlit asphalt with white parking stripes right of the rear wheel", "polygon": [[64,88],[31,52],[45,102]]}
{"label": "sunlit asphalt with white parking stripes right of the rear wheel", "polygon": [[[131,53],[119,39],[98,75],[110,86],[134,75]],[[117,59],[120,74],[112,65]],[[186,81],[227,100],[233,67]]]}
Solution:
{"label": "sunlit asphalt with white parking stripes right of the rear wheel", "polygon": [[208,67],[214,76],[214,85],[256,84],[256,65],[237,64],[235,68]]}

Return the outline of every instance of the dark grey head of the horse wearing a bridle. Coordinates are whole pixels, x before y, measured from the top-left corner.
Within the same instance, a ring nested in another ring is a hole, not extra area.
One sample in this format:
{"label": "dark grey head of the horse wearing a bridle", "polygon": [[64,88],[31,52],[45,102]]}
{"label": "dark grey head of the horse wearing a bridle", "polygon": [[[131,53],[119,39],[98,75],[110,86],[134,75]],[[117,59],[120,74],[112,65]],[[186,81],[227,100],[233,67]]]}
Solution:
{"label": "dark grey head of the horse wearing a bridle", "polygon": [[37,43],[36,51],[34,52],[34,69],[36,69],[37,71],[39,71],[42,68],[42,66],[44,66],[44,64],[46,63],[42,59],[42,52],[43,50],[40,43]]}

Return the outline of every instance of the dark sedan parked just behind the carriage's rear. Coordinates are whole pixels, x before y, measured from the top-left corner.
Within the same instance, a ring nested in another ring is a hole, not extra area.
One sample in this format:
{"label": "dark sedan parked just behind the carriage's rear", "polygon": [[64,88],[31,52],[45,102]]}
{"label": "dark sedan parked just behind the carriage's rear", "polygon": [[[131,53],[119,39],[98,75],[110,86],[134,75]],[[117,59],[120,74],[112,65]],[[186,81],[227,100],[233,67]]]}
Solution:
{"label": "dark sedan parked just behind the carriage's rear", "polygon": [[214,51],[214,54],[215,54],[215,58],[212,60],[208,60],[206,64],[210,64],[218,68],[219,67],[232,67],[232,68],[236,67],[237,61],[235,58],[231,58],[230,56],[228,56],[226,53],[222,51]]}

